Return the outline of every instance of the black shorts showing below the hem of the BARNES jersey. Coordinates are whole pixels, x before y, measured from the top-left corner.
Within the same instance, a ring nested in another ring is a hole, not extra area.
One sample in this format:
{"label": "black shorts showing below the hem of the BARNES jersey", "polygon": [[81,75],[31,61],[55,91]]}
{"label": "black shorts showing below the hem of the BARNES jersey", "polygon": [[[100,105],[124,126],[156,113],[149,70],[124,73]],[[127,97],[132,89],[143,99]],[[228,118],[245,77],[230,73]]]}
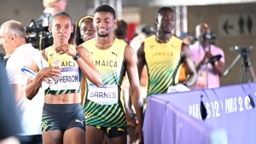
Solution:
{"label": "black shorts showing below the hem of the BARNES jersey", "polygon": [[108,127],[96,126],[96,128],[99,130],[103,130],[108,136],[108,138],[116,138],[116,137],[127,134],[126,127],[125,128],[108,128]]}

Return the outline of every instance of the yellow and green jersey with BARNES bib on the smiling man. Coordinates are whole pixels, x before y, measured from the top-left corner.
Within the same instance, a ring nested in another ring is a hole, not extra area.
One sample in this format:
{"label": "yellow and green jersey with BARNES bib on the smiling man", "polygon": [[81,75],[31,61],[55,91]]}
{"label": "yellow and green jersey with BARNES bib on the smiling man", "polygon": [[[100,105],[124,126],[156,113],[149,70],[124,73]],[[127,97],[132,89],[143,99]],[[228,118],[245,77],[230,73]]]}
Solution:
{"label": "yellow and green jersey with BARNES bib on the smiling man", "polygon": [[126,43],[115,38],[109,49],[97,49],[95,38],[83,43],[93,64],[102,76],[102,85],[96,87],[86,81],[84,117],[87,125],[96,127],[125,127],[122,84],[125,79]]}

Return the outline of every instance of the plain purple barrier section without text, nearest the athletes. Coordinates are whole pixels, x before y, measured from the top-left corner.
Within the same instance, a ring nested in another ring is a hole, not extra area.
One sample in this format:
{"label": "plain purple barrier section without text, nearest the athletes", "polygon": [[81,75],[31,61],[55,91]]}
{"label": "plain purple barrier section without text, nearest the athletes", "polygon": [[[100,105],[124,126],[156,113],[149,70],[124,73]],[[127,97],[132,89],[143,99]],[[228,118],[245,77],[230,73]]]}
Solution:
{"label": "plain purple barrier section without text, nearest the athletes", "polygon": [[148,98],[143,125],[147,144],[208,144],[212,128],[158,97]]}

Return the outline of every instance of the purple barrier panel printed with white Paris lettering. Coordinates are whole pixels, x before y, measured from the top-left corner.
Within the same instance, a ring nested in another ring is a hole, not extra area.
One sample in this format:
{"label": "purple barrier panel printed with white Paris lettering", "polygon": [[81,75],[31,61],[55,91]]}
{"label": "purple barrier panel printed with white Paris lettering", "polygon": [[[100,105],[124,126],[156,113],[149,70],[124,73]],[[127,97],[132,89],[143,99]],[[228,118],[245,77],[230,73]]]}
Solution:
{"label": "purple barrier panel printed with white Paris lettering", "polygon": [[[169,101],[168,104],[177,106],[198,121],[213,128],[223,128],[228,133],[229,143],[254,144],[256,141],[256,136],[254,136],[256,133],[256,110],[252,107],[254,104],[252,101],[256,100],[255,94],[256,84],[253,83],[154,95],[154,99],[150,97],[148,101],[155,100],[156,97],[158,101]],[[204,121],[201,119],[201,101],[207,109],[207,118]],[[158,107],[150,106],[150,109],[156,108]],[[147,107],[146,114],[150,109],[148,110]],[[150,121],[153,122],[154,117],[151,118]],[[177,123],[172,118],[170,119],[170,123]],[[146,121],[148,121],[147,118],[145,118]],[[183,136],[186,138],[186,135]]]}

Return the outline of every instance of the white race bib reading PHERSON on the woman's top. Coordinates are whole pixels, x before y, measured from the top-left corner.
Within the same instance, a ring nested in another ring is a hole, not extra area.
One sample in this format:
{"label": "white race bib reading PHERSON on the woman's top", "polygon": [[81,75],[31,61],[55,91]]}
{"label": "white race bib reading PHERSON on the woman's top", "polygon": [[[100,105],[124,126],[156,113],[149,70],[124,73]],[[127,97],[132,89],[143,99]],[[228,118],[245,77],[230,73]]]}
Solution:
{"label": "white race bib reading PHERSON on the woman's top", "polygon": [[61,77],[49,88],[53,90],[79,89],[79,86],[79,67],[64,67],[61,68]]}

